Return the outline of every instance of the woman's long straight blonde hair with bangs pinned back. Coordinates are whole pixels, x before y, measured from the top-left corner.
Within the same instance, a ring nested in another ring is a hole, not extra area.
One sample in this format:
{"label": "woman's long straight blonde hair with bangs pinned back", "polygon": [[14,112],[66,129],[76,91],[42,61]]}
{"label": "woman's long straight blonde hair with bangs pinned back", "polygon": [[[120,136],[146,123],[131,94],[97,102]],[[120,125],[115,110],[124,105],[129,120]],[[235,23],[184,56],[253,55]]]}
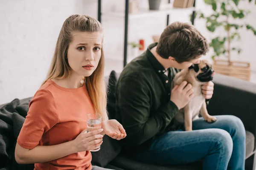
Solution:
{"label": "woman's long straight blonde hair with bangs pinned back", "polygon": [[[71,15],[68,17],[61,28],[58,36],[54,55],[52,57],[51,66],[47,78],[43,84],[49,79],[64,79],[70,77],[72,69],[67,62],[67,50],[72,41],[73,31],[97,32],[103,31],[103,28],[98,20],[87,15]],[[108,120],[106,110],[107,93],[104,79],[104,53],[101,48],[101,57],[99,64],[93,74],[89,77],[84,77],[86,87],[90,98],[93,102],[94,109],[102,115],[102,120]]]}

